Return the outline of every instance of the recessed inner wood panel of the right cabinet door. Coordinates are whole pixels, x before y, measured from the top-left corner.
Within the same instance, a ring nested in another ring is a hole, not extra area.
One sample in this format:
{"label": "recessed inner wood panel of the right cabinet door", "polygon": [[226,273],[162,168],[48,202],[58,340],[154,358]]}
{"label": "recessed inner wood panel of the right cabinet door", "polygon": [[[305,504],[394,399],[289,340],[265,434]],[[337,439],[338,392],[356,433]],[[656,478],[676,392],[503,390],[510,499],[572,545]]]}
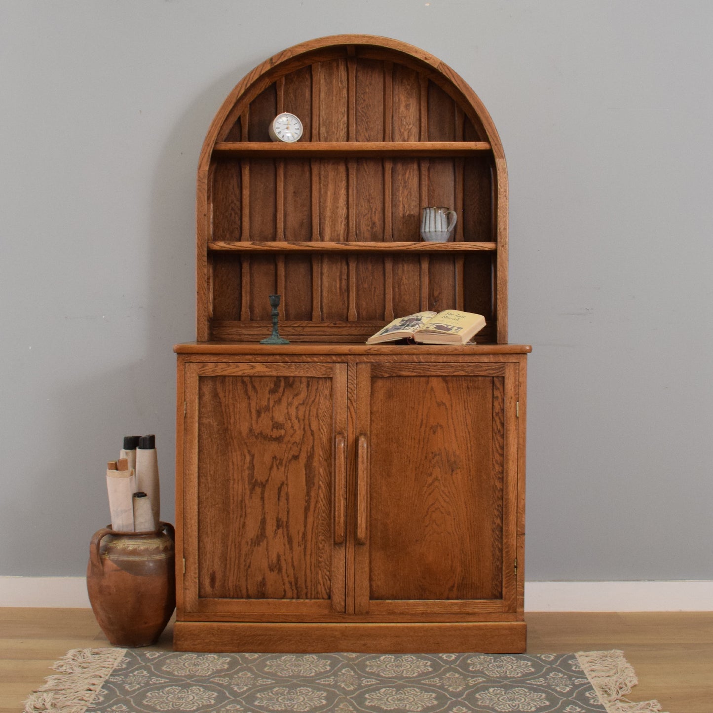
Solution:
{"label": "recessed inner wood panel of the right cabinet door", "polygon": [[501,598],[497,383],[428,371],[372,379],[371,599]]}

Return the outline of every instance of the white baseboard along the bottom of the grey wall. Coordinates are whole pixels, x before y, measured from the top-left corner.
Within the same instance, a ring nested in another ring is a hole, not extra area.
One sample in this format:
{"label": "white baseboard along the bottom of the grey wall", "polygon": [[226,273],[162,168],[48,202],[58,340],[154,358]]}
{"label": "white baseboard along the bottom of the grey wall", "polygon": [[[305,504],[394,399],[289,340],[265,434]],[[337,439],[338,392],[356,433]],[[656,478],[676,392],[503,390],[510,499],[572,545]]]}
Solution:
{"label": "white baseboard along the bottom of the grey wall", "polygon": [[[1,577],[0,607],[89,607],[83,577]],[[713,580],[526,582],[528,612],[713,610]]]}

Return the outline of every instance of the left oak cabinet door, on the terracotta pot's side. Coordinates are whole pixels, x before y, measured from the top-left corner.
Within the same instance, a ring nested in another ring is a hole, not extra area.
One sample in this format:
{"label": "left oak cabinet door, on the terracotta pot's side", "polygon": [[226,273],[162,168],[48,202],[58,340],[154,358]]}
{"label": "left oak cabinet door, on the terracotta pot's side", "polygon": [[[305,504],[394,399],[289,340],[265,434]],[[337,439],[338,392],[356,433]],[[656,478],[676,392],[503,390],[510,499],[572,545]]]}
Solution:
{"label": "left oak cabinet door, on the terracotta pot's side", "polygon": [[345,364],[187,364],[185,610],[344,611]]}

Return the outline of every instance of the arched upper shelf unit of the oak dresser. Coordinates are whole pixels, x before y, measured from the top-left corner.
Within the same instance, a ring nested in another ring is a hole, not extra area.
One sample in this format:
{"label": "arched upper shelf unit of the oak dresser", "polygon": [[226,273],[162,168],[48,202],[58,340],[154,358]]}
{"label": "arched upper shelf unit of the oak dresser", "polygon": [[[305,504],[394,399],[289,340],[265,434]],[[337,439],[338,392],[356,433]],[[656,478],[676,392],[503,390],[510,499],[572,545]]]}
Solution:
{"label": "arched upper shelf unit of the oak dresser", "polygon": [[[295,144],[271,143],[281,111]],[[420,209],[458,212],[419,240]],[[486,315],[506,343],[508,183],[493,122],[451,68],[384,37],[337,35],[257,66],[217,112],[198,166],[198,341],[362,342],[419,309]],[[269,331],[269,329],[268,329]]]}

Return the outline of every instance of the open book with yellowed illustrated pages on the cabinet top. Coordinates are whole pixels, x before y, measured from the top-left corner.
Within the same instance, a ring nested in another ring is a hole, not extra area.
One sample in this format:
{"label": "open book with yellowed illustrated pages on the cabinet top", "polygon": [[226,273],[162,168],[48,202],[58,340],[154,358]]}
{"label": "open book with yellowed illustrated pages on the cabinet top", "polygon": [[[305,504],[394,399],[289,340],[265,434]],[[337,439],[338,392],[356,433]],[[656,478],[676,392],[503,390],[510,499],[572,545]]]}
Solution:
{"label": "open book with yellowed illustrated pages on the cabinet top", "polygon": [[386,324],[366,344],[414,339],[424,344],[466,344],[486,326],[486,318],[473,312],[446,309],[443,312],[416,312]]}

